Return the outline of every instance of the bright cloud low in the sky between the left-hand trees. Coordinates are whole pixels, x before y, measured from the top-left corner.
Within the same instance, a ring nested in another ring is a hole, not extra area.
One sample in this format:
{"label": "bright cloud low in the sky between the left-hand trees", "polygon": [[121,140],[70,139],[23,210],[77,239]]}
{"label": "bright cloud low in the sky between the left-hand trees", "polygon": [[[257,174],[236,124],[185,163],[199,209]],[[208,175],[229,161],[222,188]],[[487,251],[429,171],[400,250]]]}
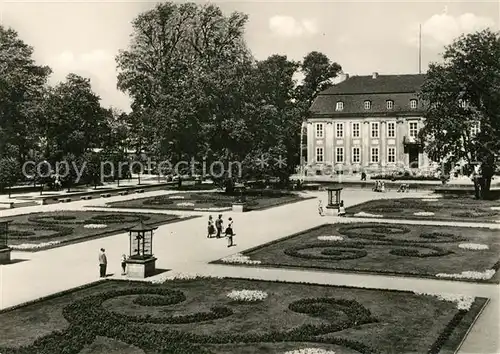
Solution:
{"label": "bright cloud low in the sky between the left-hand trees", "polygon": [[103,106],[113,105],[125,111],[130,110],[127,95],[116,89],[116,63],[114,54],[96,49],[75,54],[65,51],[52,57],[47,63],[54,71],[53,84],[63,81],[69,73],[90,78],[92,89],[101,97]]}

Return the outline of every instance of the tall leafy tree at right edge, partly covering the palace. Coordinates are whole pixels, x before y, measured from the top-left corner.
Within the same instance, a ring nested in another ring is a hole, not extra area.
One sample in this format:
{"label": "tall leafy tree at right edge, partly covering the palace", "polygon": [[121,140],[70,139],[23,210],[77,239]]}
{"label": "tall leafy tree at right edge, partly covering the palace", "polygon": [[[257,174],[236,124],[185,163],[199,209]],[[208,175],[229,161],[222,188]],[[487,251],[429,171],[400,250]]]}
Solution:
{"label": "tall leafy tree at right edge, partly covering the palace", "polygon": [[500,152],[500,37],[491,30],[462,35],[429,67],[421,97],[427,102],[421,137],[436,161],[465,162],[476,198],[490,190]]}

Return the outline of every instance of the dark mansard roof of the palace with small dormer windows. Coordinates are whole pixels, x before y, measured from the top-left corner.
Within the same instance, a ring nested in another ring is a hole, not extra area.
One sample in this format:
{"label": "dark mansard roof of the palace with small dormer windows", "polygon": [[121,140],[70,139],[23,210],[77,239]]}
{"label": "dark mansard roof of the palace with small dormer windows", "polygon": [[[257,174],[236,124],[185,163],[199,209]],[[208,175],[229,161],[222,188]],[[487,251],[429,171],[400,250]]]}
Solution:
{"label": "dark mansard roof of the palace with small dormer windows", "polygon": [[[313,116],[347,115],[394,115],[421,112],[423,105],[418,100],[418,91],[425,74],[352,76],[318,94],[311,105]],[[410,108],[410,100],[418,102],[416,109]],[[387,108],[387,101],[393,108]],[[364,102],[371,101],[371,109],[364,109]],[[337,102],[343,102],[342,111],[336,110]]]}

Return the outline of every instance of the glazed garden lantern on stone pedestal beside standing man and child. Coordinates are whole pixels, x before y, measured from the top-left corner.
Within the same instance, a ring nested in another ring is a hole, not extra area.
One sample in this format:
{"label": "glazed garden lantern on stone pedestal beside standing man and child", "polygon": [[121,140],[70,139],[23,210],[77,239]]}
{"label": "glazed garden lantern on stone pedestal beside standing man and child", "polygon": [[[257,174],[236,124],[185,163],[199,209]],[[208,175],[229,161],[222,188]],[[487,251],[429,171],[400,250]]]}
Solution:
{"label": "glazed garden lantern on stone pedestal beside standing man and child", "polygon": [[153,256],[153,232],[158,227],[139,224],[128,229],[129,257],[127,276],[129,278],[147,278],[156,272],[156,258]]}

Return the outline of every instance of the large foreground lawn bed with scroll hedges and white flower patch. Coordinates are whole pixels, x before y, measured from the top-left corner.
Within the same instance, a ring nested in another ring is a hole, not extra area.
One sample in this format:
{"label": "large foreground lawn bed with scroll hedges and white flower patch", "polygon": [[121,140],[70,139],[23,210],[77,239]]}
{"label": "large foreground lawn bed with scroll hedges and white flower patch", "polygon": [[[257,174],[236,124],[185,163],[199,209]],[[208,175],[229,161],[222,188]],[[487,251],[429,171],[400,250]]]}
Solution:
{"label": "large foreground lawn bed with scroll hedges and white flower patch", "polygon": [[244,279],[106,280],[1,312],[0,352],[451,354],[486,303]]}

